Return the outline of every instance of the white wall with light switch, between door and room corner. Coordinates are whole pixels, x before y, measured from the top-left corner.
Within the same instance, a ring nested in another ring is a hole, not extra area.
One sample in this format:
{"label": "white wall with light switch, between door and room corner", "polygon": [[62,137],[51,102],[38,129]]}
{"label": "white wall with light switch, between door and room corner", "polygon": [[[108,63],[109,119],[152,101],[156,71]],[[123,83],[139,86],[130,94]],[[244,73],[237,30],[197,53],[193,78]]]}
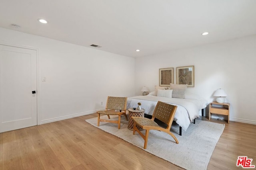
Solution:
{"label": "white wall with light switch, between door and room corner", "polygon": [[134,58],[3,28],[0,42],[38,49],[38,124],[95,113],[107,96],[134,96]]}

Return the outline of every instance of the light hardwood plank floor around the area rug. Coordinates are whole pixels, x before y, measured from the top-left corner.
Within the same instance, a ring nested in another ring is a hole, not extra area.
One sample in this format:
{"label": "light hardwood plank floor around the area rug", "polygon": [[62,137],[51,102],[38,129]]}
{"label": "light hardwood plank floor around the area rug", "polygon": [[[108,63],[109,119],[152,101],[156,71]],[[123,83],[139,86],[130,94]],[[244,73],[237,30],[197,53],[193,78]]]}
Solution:
{"label": "light hardwood plank floor around the area rug", "polygon": [[[0,170],[182,169],[84,121],[96,116],[0,133]],[[209,121],[208,117],[200,119]],[[238,156],[248,156],[256,165],[256,125],[211,121],[226,127],[207,169],[241,170],[236,166]]]}

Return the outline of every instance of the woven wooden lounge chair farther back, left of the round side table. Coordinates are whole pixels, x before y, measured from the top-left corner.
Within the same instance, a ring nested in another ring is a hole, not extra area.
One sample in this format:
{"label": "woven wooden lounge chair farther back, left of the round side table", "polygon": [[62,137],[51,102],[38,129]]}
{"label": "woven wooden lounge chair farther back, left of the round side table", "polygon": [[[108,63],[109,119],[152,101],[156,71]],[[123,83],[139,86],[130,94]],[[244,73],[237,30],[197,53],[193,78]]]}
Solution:
{"label": "woven wooden lounge chair farther back, left of the round side table", "polygon": [[[97,111],[98,113],[98,123],[97,126],[100,125],[100,121],[110,122],[110,123],[117,123],[118,129],[120,129],[120,121],[121,115],[124,115],[126,120],[128,120],[126,115],[126,104],[127,104],[127,97],[111,97],[108,96],[108,100],[106,103],[106,109],[102,111]],[[108,115],[108,119],[110,119],[109,115],[118,115],[118,121],[114,120],[106,120],[100,119],[100,114]]]}

